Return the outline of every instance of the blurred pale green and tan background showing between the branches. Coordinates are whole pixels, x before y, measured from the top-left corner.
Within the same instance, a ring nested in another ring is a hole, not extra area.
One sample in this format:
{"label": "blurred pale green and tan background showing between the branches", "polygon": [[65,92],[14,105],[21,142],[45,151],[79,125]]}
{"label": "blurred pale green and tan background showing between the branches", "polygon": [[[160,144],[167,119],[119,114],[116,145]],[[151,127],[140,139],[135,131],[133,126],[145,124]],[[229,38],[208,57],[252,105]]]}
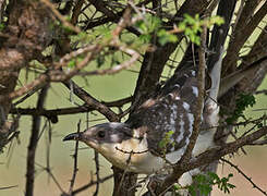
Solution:
{"label": "blurred pale green and tan background showing between the branches", "polygon": [[[94,69],[93,65],[90,69]],[[132,70],[138,70],[138,65],[132,68]],[[34,74],[29,74],[28,79],[33,78]],[[130,71],[122,71],[120,74],[108,75],[108,76],[90,76],[86,77],[87,81],[75,77],[77,82],[85,90],[92,94],[99,100],[111,101],[124,97],[129,97],[133,94],[134,86],[136,83],[137,74]],[[21,79],[25,81],[25,73],[21,75]],[[264,89],[267,87],[267,79],[259,87]],[[56,109],[64,107],[74,107],[70,100],[69,90],[61,84],[52,84],[47,98],[46,108]],[[260,117],[267,109],[266,96],[259,95],[256,97],[257,103],[253,109],[247,110],[247,117]],[[36,96],[26,100],[20,107],[34,108]],[[74,97],[74,101],[83,103],[78,98]],[[124,107],[125,109],[125,107]],[[254,111],[255,109],[265,109],[262,111]],[[95,121],[102,119],[102,117],[93,112],[89,114],[89,125],[105,122]],[[52,124],[52,143],[50,146],[50,166],[51,171],[59,182],[60,186],[68,192],[70,186],[70,180],[73,171],[73,155],[74,142],[63,143],[62,138],[64,135],[75,132],[77,122],[82,121],[82,130],[86,127],[86,113],[73,114],[73,115],[61,115],[59,122]],[[125,121],[125,119],[123,119]],[[0,196],[19,196],[24,195],[25,189],[25,173],[26,173],[26,155],[27,145],[29,140],[29,133],[32,128],[32,118],[22,117],[20,122],[20,139],[13,140],[12,144],[4,150],[4,154],[0,155],[0,187],[17,185],[10,189],[0,189]],[[43,124],[45,120],[43,119]],[[84,144],[80,144],[82,148],[78,151],[78,172],[75,182],[75,188],[84,185],[92,180],[95,180],[95,164],[94,164],[94,151],[87,148]],[[86,148],[84,148],[86,147]],[[267,189],[267,154],[266,146],[263,147],[250,147],[246,148],[247,156],[244,156],[241,151],[239,155],[235,154],[234,159],[231,159],[235,164],[242,169],[244,173],[252,177],[252,180],[260,186],[263,189]],[[46,130],[39,140],[36,157],[36,181],[35,181],[35,195],[38,196],[59,196],[61,191],[56,185],[51,176],[44,171],[39,164],[46,167],[48,154],[48,131]],[[228,157],[227,157],[228,158]],[[100,157],[100,175],[106,176],[111,174],[110,163],[108,163],[102,157]],[[234,169],[229,166],[220,166],[218,174],[227,176],[229,173],[233,173],[234,177],[231,179],[231,183],[236,186],[230,195],[243,196],[243,195],[262,195]],[[82,194],[81,196],[93,195],[95,188],[92,187]],[[112,193],[112,180],[109,180],[100,185],[99,195],[111,195]],[[215,196],[224,195],[222,192],[218,192],[215,188]]]}

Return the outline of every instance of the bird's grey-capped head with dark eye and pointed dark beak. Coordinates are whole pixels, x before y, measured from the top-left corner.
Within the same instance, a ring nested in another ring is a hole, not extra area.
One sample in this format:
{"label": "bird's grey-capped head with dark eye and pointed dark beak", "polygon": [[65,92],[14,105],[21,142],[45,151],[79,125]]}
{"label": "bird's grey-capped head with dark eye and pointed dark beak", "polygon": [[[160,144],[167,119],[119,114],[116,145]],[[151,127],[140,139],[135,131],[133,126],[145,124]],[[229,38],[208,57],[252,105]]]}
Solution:
{"label": "bird's grey-capped head with dark eye and pointed dark beak", "polygon": [[63,140],[81,140],[101,154],[109,154],[113,146],[132,137],[132,130],[125,123],[104,123],[81,133],[66,135]]}

